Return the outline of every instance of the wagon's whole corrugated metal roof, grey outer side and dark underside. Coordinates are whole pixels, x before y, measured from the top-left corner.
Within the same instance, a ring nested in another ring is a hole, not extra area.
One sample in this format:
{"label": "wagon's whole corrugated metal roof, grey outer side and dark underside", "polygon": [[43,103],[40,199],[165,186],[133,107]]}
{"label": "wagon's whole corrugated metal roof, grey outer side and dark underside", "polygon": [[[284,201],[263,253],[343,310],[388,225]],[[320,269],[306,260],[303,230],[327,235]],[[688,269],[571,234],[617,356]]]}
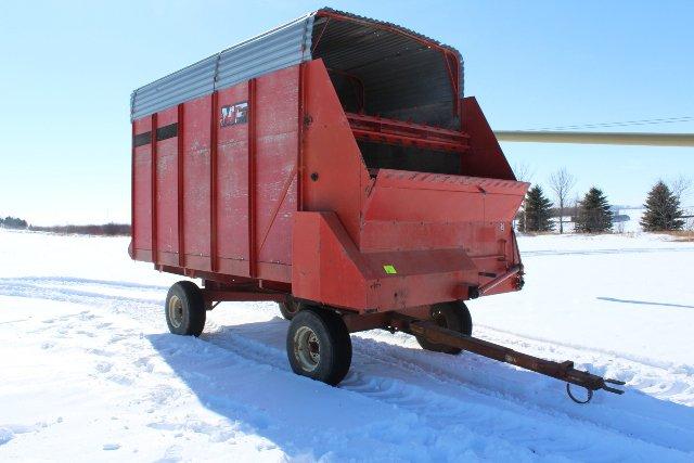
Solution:
{"label": "wagon's whole corrugated metal roof, grey outer side and dark underside", "polygon": [[139,88],[131,119],[321,57],[364,82],[368,113],[451,126],[453,95],[440,49],[461,63],[462,97],[458,50],[393,23],[325,8]]}

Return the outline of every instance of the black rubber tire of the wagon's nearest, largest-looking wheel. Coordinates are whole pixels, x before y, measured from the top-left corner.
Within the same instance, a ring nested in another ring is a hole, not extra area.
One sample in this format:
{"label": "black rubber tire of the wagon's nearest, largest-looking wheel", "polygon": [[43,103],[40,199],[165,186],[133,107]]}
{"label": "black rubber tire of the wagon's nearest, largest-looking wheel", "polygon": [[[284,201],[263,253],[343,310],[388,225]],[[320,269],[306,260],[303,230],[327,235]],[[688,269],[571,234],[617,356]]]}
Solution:
{"label": "black rubber tire of the wagon's nearest, largest-looking wheel", "polygon": [[[320,346],[317,365],[307,370],[297,351],[297,332],[310,329]],[[286,334],[286,355],[294,373],[336,386],[345,378],[351,364],[351,338],[345,322],[330,309],[306,307],[294,316]]]}

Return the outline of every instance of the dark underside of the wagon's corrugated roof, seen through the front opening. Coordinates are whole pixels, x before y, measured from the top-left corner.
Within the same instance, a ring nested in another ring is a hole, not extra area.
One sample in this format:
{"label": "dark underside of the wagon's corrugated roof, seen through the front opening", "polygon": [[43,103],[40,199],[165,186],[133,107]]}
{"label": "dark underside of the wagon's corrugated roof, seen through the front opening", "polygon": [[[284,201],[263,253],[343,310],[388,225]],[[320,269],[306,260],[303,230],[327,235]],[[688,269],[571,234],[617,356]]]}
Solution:
{"label": "dark underside of the wagon's corrugated roof, seen through the front opening", "polygon": [[[441,51],[460,63],[455,49],[393,23],[331,9],[320,10],[318,16],[312,56],[321,57],[329,69],[339,69],[363,83],[367,114],[439,127],[460,126],[452,111],[457,99]],[[462,67],[460,78],[462,81]],[[338,88],[336,80],[333,76]],[[462,97],[462,85],[459,88]],[[340,97],[344,102],[346,98]]]}

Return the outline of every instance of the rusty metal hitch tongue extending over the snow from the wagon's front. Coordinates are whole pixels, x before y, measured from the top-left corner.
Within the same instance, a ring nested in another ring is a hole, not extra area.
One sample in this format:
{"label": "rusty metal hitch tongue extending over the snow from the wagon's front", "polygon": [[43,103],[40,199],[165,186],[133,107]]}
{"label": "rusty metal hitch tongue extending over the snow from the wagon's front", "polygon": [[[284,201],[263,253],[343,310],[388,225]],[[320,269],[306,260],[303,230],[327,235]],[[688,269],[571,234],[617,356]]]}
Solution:
{"label": "rusty metal hitch tongue extending over the snow from the wagon's front", "polygon": [[[589,372],[576,370],[574,362],[553,362],[527,353],[518,352],[498,344],[489,343],[476,337],[447,330],[430,321],[411,320],[408,323],[410,333],[424,336],[430,343],[444,344],[459,349],[467,350],[483,357],[488,357],[504,363],[520,366],[545,376],[552,376],[566,382],[566,393],[577,403],[588,403],[593,398],[593,391],[603,389],[613,394],[624,394],[609,385],[624,386],[622,381],[607,380]],[[570,386],[583,387],[588,391],[586,399],[580,400],[571,394]]]}

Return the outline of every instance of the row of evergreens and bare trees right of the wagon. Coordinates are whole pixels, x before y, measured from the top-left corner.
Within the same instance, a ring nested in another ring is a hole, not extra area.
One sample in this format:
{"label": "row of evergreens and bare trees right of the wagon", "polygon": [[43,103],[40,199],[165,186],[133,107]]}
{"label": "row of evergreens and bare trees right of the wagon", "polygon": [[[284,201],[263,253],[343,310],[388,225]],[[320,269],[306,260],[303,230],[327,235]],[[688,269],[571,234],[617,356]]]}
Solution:
{"label": "row of evergreens and bare trees right of the wagon", "polygon": [[[518,177],[528,177],[527,167],[518,169]],[[592,187],[582,200],[577,200],[574,207],[568,207],[567,200],[576,179],[566,169],[560,169],[549,178],[550,190],[554,193],[556,203],[553,204],[542,190],[536,184],[524,201],[518,214],[518,230],[523,232],[550,232],[556,229],[557,222],[552,220],[558,216],[558,232],[564,232],[564,215],[570,211],[575,223],[574,230],[578,233],[605,233],[614,226],[614,215],[605,193]],[[667,185],[658,180],[648,192],[640,224],[644,231],[674,231],[684,228],[684,211],[680,206],[682,194],[691,187],[691,182],[681,177]],[[553,207],[556,206],[556,207]]]}

